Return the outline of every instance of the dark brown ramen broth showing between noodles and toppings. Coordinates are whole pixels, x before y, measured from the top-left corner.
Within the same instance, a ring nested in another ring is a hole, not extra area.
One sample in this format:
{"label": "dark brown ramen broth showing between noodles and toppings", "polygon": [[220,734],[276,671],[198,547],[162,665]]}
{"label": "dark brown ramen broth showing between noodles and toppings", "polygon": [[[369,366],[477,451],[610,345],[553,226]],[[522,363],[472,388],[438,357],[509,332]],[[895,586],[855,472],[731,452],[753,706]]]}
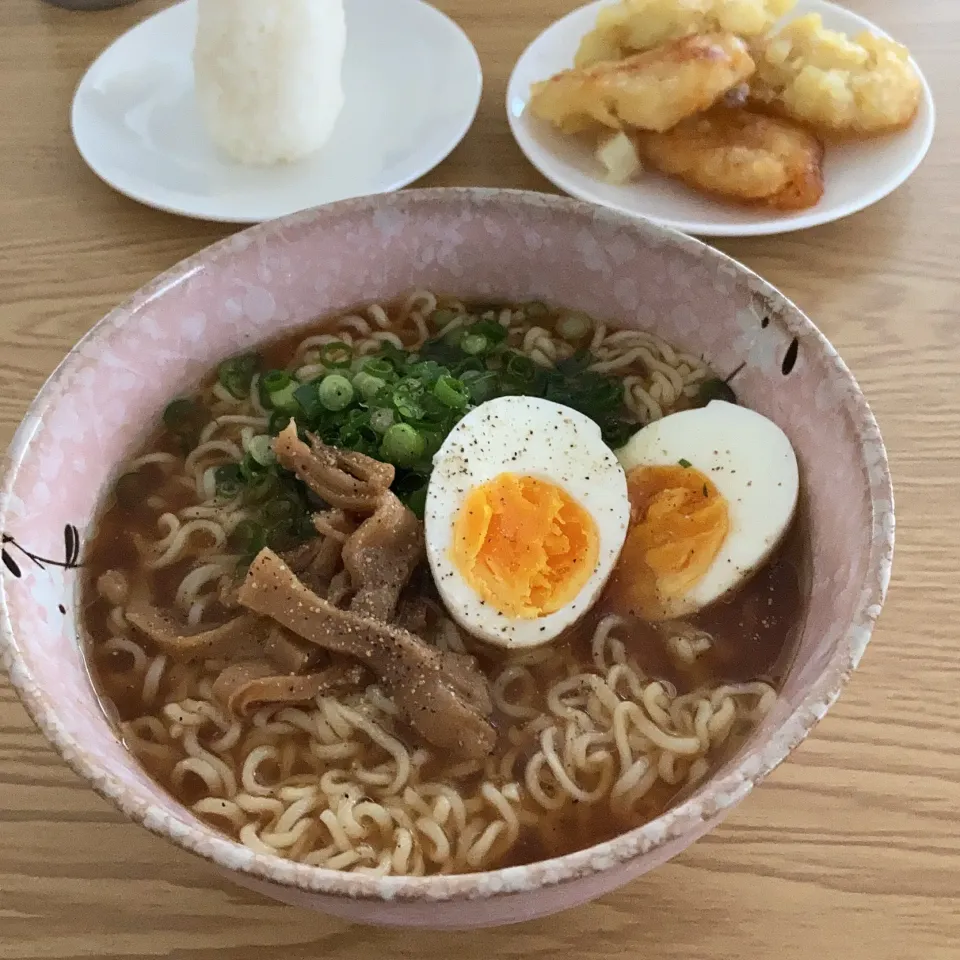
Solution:
{"label": "dark brown ramen broth showing between noodles and toppings", "polygon": [[[396,306],[391,310],[395,315]],[[539,321],[538,321],[539,322]],[[295,334],[275,340],[260,348],[268,367],[285,367],[297,345],[306,337],[318,332],[328,331],[328,323],[314,328],[299,330]],[[416,331],[411,326],[391,329],[399,330],[401,338],[409,343]],[[211,374],[203,384],[200,394],[209,395],[214,382]],[[689,405],[683,398],[677,408]],[[164,451],[179,453],[162,430],[155,431],[141,447],[141,452]],[[107,618],[109,605],[99,597],[96,591],[98,577],[107,570],[123,570],[131,575],[133,584],[145,588],[154,604],[161,608],[172,608],[177,587],[187,570],[195,565],[196,556],[191,555],[178,564],[162,571],[148,573],[139,560],[135,545],[136,537],[150,539],[156,536],[156,517],[158,511],[149,506],[153,498],[161,498],[165,509],[176,512],[178,509],[196,502],[195,495],[175,480],[169,480],[164,472],[156,467],[148,467],[139,473],[141,488],[137,496],[120,503],[111,493],[104,504],[96,527],[96,533],[89,542],[85,556],[84,582],[82,584],[83,624],[89,643],[89,661],[91,673],[100,695],[115,708],[115,715],[121,721],[133,720],[144,713],[141,701],[142,683],[131,682],[124,671],[128,665],[128,655],[107,652],[103,649],[108,637]],[[680,693],[697,689],[706,684],[738,683],[762,678],[779,688],[793,657],[796,640],[802,625],[803,593],[800,570],[804,559],[805,541],[799,528],[795,528],[774,558],[768,562],[736,595],[702,611],[692,619],[692,623],[711,634],[712,647],[702,654],[692,665],[676,663],[667,653],[662,638],[653,628],[634,619],[627,643],[629,655],[636,660],[642,670],[653,678],[669,681]],[[431,584],[431,599],[437,600]],[[594,609],[574,627],[561,642],[569,645],[577,664],[584,670],[592,670],[590,638],[600,619],[613,611],[609,598],[601,597]],[[214,602],[204,626],[228,619],[229,612]],[[185,631],[186,632],[186,631]],[[138,638],[140,642],[142,638]],[[149,641],[143,641],[143,647],[151,651]],[[476,652],[486,659],[482,662],[490,665],[498,662],[490,651],[477,649]],[[177,669],[177,668],[174,668]],[[200,669],[199,667],[197,669]],[[161,688],[161,701],[169,693],[169,678]],[[111,712],[112,711],[108,711]],[[506,729],[510,719],[495,716],[495,724]],[[404,738],[411,748],[421,743],[410,730],[404,730]],[[291,734],[298,743],[304,741],[302,733]],[[305,741],[304,741],[305,742]],[[507,748],[501,737],[498,752]],[[228,753],[225,759],[238,764],[240,757]],[[187,779],[183,788],[174,789],[170,782],[170,771],[162,764],[152,762],[149,757],[141,758],[145,769],[178,800],[190,805],[203,791],[196,780]],[[719,762],[718,758],[712,759]],[[438,777],[443,777],[443,763],[435,763]],[[308,774],[307,768],[297,769],[294,773]],[[461,787],[463,783],[459,784]],[[637,822],[650,819],[661,813],[672,803],[682,790],[681,787],[669,787],[658,783],[644,797],[637,811]],[[576,808],[575,808],[576,809]],[[222,824],[214,822],[214,826]],[[605,816],[588,815],[585,811],[576,813],[568,821],[557,824],[559,831],[545,842],[540,833],[526,830],[517,844],[504,858],[504,865],[522,864],[543,859],[559,852],[571,852],[593,843],[610,839],[634,824],[624,824]]]}

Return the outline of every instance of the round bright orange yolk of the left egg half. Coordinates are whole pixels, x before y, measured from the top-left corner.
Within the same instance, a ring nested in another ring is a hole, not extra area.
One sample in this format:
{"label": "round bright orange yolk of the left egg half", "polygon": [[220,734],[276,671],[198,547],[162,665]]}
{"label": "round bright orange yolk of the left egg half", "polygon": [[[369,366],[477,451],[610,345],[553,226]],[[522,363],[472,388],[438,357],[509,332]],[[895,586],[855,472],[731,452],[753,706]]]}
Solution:
{"label": "round bright orange yolk of the left egg half", "polygon": [[593,517],[556,484],[501,473],[468,494],[451,552],[487,603],[533,620],[580,592],[597,565],[600,537]]}

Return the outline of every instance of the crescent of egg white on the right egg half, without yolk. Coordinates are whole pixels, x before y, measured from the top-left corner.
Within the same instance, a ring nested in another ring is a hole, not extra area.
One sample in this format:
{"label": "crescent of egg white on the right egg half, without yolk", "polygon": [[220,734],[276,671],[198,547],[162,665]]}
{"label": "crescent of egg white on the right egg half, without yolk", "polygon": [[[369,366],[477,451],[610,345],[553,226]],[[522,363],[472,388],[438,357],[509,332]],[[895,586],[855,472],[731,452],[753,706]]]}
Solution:
{"label": "crescent of egg white on the right egg half, without yolk", "polygon": [[779,546],[800,490],[787,435],[753,410],[714,400],[638,431],[617,451],[628,473],[640,466],[689,463],[727,502],[730,529],[706,573],[684,594],[663,598],[669,617],[701,610],[736,590]]}

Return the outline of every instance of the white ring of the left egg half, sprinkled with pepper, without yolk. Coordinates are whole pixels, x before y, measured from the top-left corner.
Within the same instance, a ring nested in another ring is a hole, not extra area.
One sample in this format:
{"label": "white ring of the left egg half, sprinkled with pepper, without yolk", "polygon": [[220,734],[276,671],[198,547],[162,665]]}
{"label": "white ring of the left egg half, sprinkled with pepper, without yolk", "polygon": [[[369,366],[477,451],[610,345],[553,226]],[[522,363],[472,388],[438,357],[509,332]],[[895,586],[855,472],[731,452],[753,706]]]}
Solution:
{"label": "white ring of the left egg half, sprinkled with pepper, without yolk", "polygon": [[[597,526],[599,554],[590,578],[570,603],[536,619],[495,610],[451,558],[464,500],[501,473],[556,484]],[[464,630],[508,649],[536,647],[575,623],[597,599],[620,555],[629,520],[626,476],[597,424],[549,400],[500,397],[471,410],[434,457],[424,512],[427,557],[444,605]]]}

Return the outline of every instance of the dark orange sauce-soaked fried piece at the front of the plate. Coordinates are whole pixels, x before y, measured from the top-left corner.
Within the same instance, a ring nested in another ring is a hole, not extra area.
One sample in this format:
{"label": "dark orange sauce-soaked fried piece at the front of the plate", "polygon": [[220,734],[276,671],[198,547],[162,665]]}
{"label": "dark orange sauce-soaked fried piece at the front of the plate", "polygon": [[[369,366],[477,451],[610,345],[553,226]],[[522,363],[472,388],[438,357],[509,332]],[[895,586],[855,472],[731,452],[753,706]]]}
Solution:
{"label": "dark orange sauce-soaked fried piece at the front of the plate", "polygon": [[649,166],[728,200],[804,210],[823,196],[823,145],[787,120],[716,109],[637,146]]}

